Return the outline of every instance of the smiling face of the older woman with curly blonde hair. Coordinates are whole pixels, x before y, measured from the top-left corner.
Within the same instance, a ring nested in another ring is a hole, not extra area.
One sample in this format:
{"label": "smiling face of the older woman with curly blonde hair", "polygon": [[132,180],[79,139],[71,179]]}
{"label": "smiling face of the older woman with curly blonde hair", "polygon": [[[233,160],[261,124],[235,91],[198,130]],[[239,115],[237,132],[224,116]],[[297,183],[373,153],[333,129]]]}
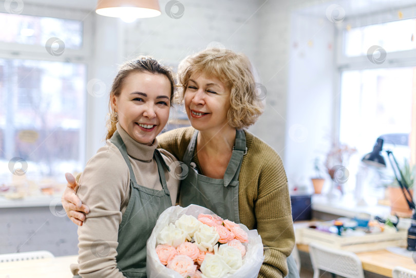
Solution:
{"label": "smiling face of the older woman with curly blonde hair", "polygon": [[218,78],[195,73],[187,83],[185,109],[192,126],[199,131],[228,125],[230,89]]}

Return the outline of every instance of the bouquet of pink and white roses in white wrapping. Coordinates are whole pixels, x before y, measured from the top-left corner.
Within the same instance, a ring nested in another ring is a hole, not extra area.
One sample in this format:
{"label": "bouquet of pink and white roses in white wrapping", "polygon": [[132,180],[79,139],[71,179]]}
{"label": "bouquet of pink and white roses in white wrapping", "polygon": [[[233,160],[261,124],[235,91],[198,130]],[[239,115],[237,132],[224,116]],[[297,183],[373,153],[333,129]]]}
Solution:
{"label": "bouquet of pink and white roses in white wrapping", "polygon": [[166,209],[147,240],[147,277],[257,277],[263,245],[256,230],[190,205]]}

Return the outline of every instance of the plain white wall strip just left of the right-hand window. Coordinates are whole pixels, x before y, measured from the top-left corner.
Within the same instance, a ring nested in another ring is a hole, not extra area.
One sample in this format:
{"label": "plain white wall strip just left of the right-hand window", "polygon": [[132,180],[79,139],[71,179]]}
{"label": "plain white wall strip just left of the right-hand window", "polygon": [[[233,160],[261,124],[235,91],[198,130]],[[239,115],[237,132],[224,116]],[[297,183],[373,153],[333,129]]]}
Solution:
{"label": "plain white wall strip just left of the right-hand window", "polygon": [[[325,10],[324,10],[325,11]],[[334,26],[322,16],[292,12],[285,168],[291,186],[310,186],[333,137],[336,104]]]}

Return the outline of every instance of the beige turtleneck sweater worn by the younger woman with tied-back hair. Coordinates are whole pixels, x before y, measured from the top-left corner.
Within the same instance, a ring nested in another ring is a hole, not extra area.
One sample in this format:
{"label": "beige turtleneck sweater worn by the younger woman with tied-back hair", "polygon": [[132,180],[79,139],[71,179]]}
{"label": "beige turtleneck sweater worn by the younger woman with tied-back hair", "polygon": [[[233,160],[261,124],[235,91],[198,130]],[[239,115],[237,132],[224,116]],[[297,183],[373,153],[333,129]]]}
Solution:
{"label": "beige turtleneck sweater worn by the younger woman with tied-back hair", "polygon": [[[131,138],[117,124],[123,142],[126,145],[137,183],[141,186],[162,190],[159,173],[153,153],[158,145],[145,145]],[[160,150],[166,164],[171,167],[177,160],[172,154]],[[171,171],[175,171],[175,165]],[[176,203],[179,181],[165,171],[167,188],[172,204]],[[90,209],[83,226],[78,228],[78,264],[71,265],[72,273],[82,277],[124,277],[117,268],[116,248],[118,230],[123,213],[130,198],[130,173],[119,149],[107,140],[87,163],[79,180],[78,197]],[[140,235],[131,235],[140,236]],[[91,250],[91,243],[103,242],[102,250]]]}

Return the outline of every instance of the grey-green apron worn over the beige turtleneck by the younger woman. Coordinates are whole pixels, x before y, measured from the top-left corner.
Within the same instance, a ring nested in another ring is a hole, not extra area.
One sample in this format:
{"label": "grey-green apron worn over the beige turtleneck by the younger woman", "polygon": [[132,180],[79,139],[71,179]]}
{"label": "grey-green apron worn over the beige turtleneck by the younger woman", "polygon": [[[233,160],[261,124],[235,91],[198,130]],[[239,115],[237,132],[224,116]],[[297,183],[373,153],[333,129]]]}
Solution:
{"label": "grey-green apron worn over the beige turtleneck by the younger woman", "polygon": [[117,267],[126,277],[145,278],[147,239],[150,237],[159,215],[165,209],[172,207],[163,165],[167,170],[169,168],[160,152],[155,150],[154,158],[158,165],[163,190],[139,186],[133,168],[131,168],[126,147],[117,131],[110,141],[118,147],[130,171],[130,200],[119,227]]}

